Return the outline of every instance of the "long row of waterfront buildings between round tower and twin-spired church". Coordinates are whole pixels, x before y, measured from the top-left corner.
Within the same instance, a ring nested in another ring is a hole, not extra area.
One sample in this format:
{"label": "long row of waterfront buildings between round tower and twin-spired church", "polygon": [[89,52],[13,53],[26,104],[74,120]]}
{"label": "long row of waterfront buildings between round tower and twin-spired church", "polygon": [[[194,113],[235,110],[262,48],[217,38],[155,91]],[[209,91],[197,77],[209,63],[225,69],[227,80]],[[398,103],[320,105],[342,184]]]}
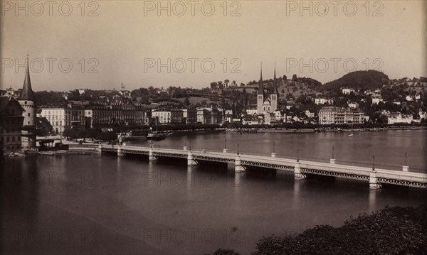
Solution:
{"label": "long row of waterfront buildings between round tower and twin-spired church", "polygon": [[91,107],[41,107],[38,116],[46,118],[57,134],[66,129],[102,128],[110,124],[121,126],[148,124],[223,124],[226,115],[215,106],[186,109],[147,109],[139,104]]}

